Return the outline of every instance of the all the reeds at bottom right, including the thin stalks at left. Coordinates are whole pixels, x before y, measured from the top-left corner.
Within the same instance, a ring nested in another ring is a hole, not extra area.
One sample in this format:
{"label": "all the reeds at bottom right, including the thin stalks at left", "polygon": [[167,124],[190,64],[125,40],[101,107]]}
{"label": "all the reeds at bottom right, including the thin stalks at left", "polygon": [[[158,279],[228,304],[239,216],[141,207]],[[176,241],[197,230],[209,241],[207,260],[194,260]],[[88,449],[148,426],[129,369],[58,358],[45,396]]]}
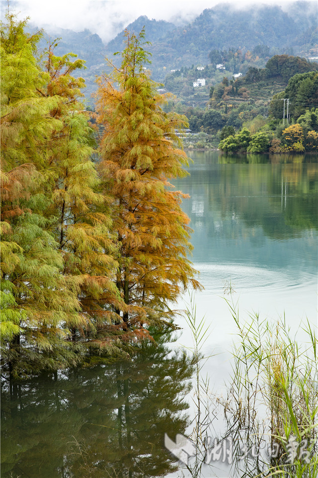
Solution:
{"label": "all the reeds at bottom right, including the thin stalks at left", "polygon": [[[298,333],[292,335],[285,317],[273,324],[252,313],[242,322],[231,282],[224,292],[231,295],[225,300],[237,327],[225,397],[213,394],[208,379],[201,376],[202,364],[207,359],[202,355],[202,346],[209,331],[204,318],[197,320],[192,297],[186,310],[196,361],[196,417],[190,438],[198,449],[188,471],[192,477],[201,476],[207,436],[218,410],[223,411],[225,432],[217,441],[231,437],[234,444],[231,476],[317,478],[316,331],[307,320],[298,331],[305,332],[307,340],[300,342]],[[249,451],[242,457],[244,443]]]}

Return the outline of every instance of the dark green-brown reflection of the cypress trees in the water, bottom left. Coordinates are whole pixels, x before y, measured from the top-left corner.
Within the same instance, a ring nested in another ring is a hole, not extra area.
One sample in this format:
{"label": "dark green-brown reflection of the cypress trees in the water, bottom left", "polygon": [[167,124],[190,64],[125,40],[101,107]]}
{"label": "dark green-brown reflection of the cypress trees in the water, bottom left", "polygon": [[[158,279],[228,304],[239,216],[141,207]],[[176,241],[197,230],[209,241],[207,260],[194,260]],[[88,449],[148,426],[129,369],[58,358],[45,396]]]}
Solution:
{"label": "dark green-brown reflection of the cypress trees in the water, bottom left", "polygon": [[[1,477],[152,477],[175,471],[192,368],[161,337],[130,362],[2,387]],[[12,385],[12,384],[11,384]]]}

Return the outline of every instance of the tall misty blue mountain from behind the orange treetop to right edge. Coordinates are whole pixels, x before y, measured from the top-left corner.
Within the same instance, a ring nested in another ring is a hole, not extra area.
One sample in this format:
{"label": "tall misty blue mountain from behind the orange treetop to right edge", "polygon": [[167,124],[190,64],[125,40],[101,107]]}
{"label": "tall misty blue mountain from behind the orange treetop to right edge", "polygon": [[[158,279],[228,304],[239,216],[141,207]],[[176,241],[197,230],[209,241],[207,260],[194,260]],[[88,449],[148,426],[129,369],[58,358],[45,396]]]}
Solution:
{"label": "tall misty blue mountain from behind the orange treetop to right edge", "polygon": [[[152,53],[152,71],[163,81],[166,71],[192,64],[206,65],[213,49],[271,47],[272,54],[306,55],[317,47],[317,3],[294,2],[288,11],[276,5],[248,5],[242,8],[221,3],[205,9],[185,26],[139,17],[127,29],[139,32],[146,26]],[[162,28],[162,29],[161,29]],[[107,56],[123,47],[121,32],[107,45]]]}

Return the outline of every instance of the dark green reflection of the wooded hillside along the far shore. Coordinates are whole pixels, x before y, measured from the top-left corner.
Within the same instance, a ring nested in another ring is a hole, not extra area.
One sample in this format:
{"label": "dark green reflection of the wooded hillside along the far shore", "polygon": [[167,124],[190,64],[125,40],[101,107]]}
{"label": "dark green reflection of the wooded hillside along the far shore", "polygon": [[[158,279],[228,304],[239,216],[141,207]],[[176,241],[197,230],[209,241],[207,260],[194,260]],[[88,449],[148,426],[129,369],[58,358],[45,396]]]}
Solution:
{"label": "dark green reflection of the wooded hillside along the far shore", "polygon": [[[221,164],[212,162],[211,169],[197,169],[195,164],[190,169],[192,194],[197,187],[201,201],[204,197],[208,202],[206,210],[217,208],[223,220],[240,218],[248,228],[260,226],[274,239],[299,237],[303,230],[318,229],[317,162],[300,162],[298,156],[288,162],[287,156],[282,163],[283,155],[275,155],[265,156],[264,163],[262,155],[245,155],[249,163],[244,164],[241,157],[228,155],[231,162],[222,163],[224,156],[218,156]],[[251,161],[254,156],[259,162]]]}

